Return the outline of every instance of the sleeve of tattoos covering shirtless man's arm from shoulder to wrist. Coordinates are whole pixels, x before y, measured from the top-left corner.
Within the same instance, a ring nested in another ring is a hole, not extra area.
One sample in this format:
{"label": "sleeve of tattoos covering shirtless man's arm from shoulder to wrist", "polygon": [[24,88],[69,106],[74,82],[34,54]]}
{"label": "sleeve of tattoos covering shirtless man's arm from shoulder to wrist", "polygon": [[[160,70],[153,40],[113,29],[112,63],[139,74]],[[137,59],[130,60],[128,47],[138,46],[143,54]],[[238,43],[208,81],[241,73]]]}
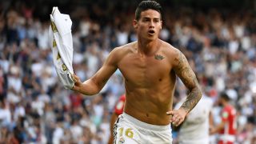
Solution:
{"label": "sleeve of tattoos covering shirtless man's arm from shoulder to wrist", "polygon": [[191,70],[184,54],[179,52],[178,58],[175,58],[175,61],[178,62],[178,65],[174,67],[174,70],[190,91],[186,101],[181,106],[188,113],[199,102],[200,98],[202,97],[202,93],[194,71]]}

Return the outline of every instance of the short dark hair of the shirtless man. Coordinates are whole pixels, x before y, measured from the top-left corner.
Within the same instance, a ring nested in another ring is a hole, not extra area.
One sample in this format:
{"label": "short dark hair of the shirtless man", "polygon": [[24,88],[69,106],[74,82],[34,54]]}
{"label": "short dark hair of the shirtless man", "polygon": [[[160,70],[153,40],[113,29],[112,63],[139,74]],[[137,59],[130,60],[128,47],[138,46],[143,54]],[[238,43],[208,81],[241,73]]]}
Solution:
{"label": "short dark hair of the shirtless man", "polygon": [[138,7],[135,11],[135,19],[138,20],[141,17],[142,11],[145,10],[156,10],[160,13],[162,17],[162,6],[155,1],[142,1],[138,4]]}

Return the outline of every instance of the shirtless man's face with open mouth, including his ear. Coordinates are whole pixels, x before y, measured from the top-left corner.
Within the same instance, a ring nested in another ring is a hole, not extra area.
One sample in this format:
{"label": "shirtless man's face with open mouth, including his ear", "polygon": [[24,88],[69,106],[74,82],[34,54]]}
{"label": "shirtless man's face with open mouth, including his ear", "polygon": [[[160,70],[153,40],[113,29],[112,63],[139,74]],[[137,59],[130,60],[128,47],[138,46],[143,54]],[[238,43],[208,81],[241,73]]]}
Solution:
{"label": "shirtless man's face with open mouth, including his ear", "polygon": [[158,38],[159,31],[162,29],[161,15],[156,10],[142,11],[139,20],[134,20],[134,28],[139,38],[154,40]]}

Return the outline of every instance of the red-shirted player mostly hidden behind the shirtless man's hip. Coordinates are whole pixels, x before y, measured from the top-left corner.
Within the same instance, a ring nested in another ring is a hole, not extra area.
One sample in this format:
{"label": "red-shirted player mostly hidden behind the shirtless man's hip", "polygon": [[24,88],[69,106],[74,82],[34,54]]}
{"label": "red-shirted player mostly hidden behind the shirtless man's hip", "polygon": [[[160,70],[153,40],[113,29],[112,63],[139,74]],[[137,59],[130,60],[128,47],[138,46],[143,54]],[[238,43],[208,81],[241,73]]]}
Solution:
{"label": "red-shirted player mostly hidden behind the shirtless man's hip", "polygon": [[118,99],[117,104],[114,106],[114,113],[111,116],[110,119],[110,139],[109,144],[114,143],[114,136],[112,130],[114,129],[114,122],[118,119],[118,116],[122,114],[123,107],[125,106],[126,101],[126,94],[122,94],[122,96]]}

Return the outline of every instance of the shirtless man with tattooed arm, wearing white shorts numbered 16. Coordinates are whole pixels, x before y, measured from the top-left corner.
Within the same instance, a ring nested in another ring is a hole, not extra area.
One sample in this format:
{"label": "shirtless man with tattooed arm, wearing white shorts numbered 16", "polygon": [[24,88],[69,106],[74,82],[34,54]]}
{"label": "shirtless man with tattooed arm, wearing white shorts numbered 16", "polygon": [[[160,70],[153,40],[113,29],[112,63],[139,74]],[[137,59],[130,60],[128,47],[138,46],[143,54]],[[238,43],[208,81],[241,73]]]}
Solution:
{"label": "shirtless man with tattooed arm, wearing white shorts numbered 16", "polygon": [[[170,122],[178,126],[202,97],[198,81],[182,52],[158,38],[162,29],[158,2],[139,3],[133,21],[138,41],[111,51],[102,68],[85,82],[74,75],[73,90],[98,94],[114,71],[125,78],[126,103],[114,126],[117,143],[171,143]],[[176,75],[190,91],[172,110]]]}

